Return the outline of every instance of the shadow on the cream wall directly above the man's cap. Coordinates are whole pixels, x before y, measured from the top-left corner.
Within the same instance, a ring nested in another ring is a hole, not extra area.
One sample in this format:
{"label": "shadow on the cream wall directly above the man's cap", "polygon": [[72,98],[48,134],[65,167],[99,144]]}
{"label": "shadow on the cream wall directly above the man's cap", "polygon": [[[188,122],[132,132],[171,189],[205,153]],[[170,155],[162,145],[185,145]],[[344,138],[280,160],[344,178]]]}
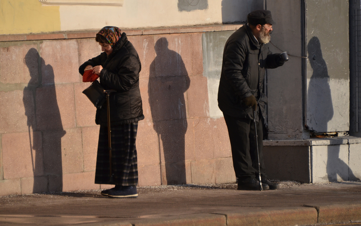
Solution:
{"label": "shadow on the cream wall directly above the man's cap", "polygon": [[222,23],[246,23],[248,13],[263,9],[264,0],[222,0]]}

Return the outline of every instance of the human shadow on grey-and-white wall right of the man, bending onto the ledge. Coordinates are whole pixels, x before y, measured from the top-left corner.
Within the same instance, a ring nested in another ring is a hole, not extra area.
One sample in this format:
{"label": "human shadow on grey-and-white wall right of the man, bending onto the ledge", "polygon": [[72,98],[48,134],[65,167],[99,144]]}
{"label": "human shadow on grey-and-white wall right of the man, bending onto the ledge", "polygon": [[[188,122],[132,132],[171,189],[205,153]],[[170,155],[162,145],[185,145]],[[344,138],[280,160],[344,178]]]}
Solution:
{"label": "human shadow on grey-and-white wall right of the man, bending onto the ledge", "polygon": [[[334,116],[334,109],[330,89],[330,76],[326,62],[322,57],[321,43],[318,37],[314,36],[310,39],[307,51],[308,60],[313,70],[307,91],[307,120],[308,125],[310,125],[309,128],[317,133],[334,132],[329,131],[327,126],[327,123]],[[326,173],[329,181],[337,181],[338,176],[344,181],[356,178],[348,164],[342,160],[348,159],[348,151],[347,156],[342,152],[342,159],[340,158],[340,151],[340,145],[327,146]]]}

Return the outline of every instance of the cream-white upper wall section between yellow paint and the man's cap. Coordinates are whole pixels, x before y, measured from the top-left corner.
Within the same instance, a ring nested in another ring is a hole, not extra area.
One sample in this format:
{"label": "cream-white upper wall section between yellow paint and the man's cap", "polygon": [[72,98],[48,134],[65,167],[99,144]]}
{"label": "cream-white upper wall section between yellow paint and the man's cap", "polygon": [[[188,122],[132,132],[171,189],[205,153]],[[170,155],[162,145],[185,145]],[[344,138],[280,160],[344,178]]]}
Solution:
{"label": "cream-white upper wall section between yellow paint and the man's cap", "polygon": [[[46,6],[45,6],[46,7]],[[208,0],[208,9],[180,11],[178,0],[124,0],[122,6],[60,5],[61,30],[173,27],[244,22],[263,0]]]}

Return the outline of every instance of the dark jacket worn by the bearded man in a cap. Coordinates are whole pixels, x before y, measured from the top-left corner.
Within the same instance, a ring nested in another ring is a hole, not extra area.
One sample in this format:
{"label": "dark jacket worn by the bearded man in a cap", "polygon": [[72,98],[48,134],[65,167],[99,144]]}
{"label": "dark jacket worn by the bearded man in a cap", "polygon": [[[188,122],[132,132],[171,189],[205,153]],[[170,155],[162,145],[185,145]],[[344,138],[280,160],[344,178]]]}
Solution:
{"label": "dark jacket worn by the bearded man in a cap", "polygon": [[252,108],[242,100],[253,95],[266,119],[267,97],[263,93],[265,71],[283,63],[278,53],[271,53],[268,44],[258,44],[248,25],[240,27],[229,37],[223,51],[218,88],[219,109],[223,114],[235,118],[253,119]]}

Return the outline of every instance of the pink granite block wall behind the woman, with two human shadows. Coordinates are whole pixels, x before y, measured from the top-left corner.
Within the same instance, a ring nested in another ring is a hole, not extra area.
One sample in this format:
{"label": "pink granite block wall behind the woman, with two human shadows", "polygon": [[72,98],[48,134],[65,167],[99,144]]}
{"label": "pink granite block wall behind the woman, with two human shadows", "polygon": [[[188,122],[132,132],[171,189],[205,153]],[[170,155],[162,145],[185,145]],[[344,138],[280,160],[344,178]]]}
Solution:
{"label": "pink granite block wall behind the woman, with two human shadows", "polygon": [[[142,62],[139,186],[235,181],[224,119],[208,115],[202,32],[169,33],[128,36]],[[78,36],[0,42],[0,195],[109,187],[94,184],[99,126],[78,73],[101,50]]]}

